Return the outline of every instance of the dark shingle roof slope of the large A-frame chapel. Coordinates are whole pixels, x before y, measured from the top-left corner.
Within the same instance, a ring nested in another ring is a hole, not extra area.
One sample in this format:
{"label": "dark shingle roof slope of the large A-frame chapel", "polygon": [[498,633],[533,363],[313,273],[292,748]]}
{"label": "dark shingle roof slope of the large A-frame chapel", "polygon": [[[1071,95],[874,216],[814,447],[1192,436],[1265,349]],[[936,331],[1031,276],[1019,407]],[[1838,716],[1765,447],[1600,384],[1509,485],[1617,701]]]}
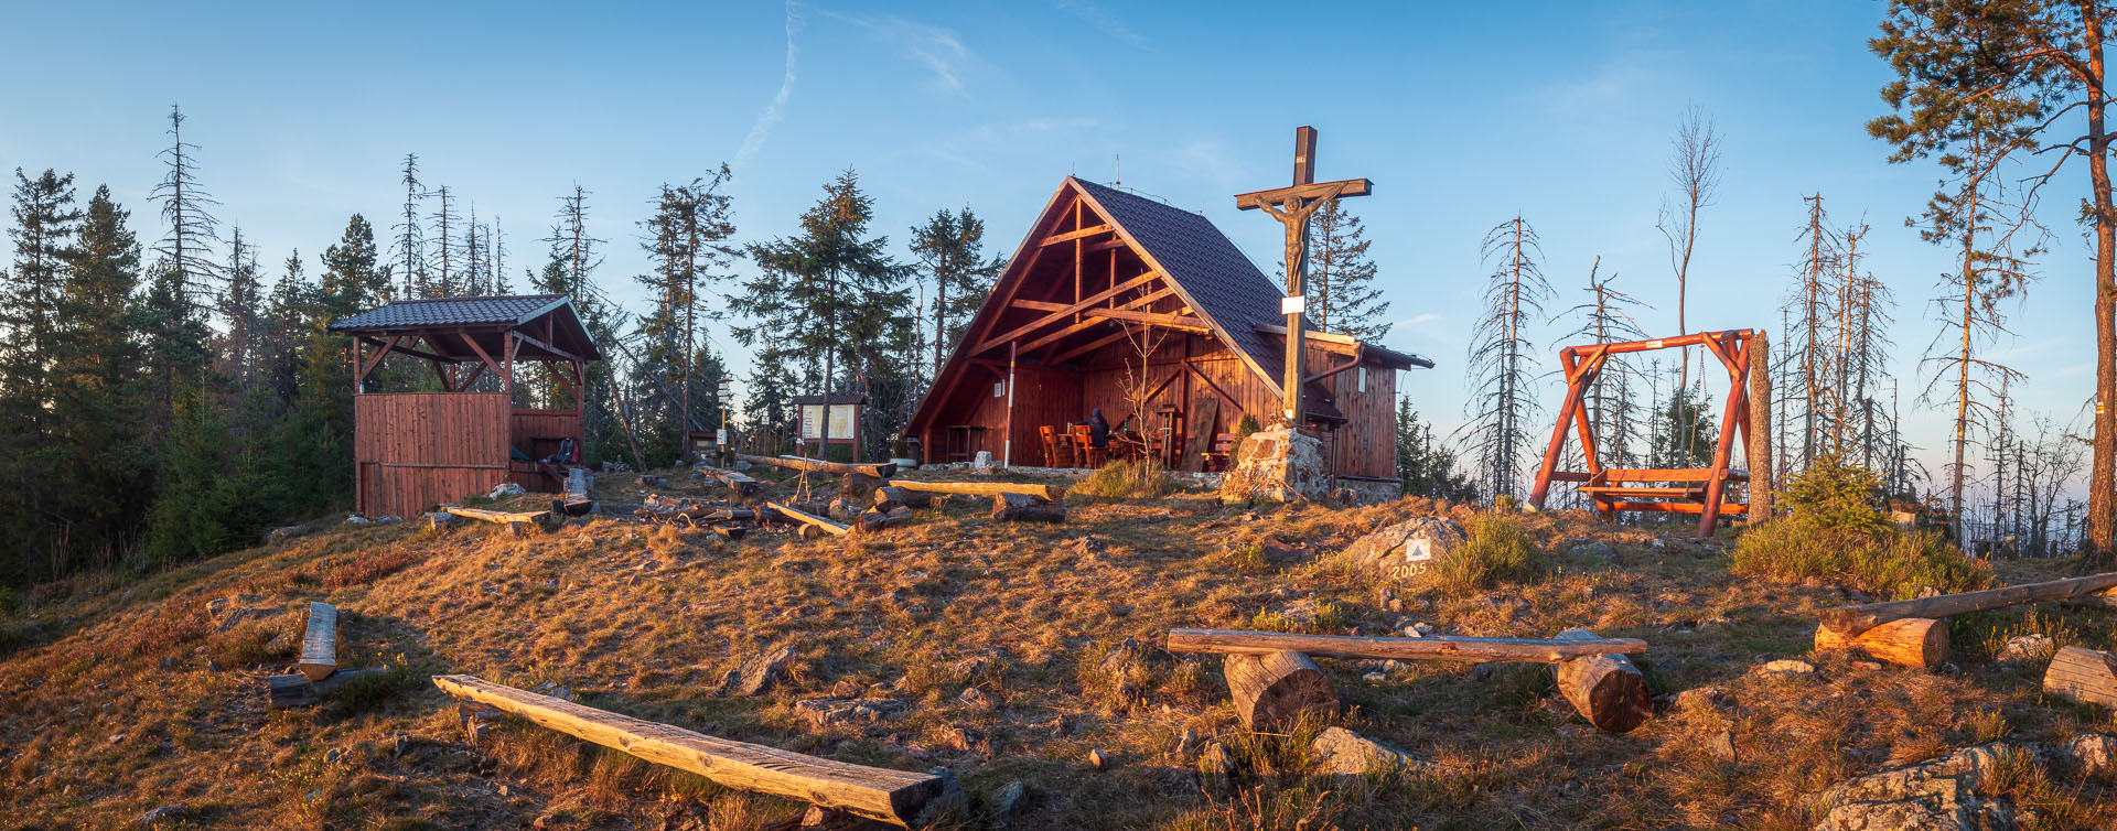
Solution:
{"label": "dark shingle roof slope of the large A-frame chapel", "polygon": [[1257,332],[1257,324],[1285,324],[1279,300],[1287,294],[1205,216],[1082,178],[1073,182],[1169,273],[1183,300],[1277,387],[1285,374],[1285,340]]}

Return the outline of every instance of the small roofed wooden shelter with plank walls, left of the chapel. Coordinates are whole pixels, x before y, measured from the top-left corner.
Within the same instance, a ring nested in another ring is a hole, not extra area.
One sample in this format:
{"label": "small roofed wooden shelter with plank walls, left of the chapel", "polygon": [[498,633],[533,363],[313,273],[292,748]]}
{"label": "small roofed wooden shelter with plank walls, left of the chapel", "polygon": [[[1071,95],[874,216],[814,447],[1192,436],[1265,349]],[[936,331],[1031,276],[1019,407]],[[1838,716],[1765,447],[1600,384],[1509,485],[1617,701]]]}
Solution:
{"label": "small roofed wooden shelter with plank walls, left of the chapel", "polygon": [[[502,482],[559,493],[584,446],[580,389],[603,359],[565,294],[398,300],[330,324],[356,340],[354,510],[411,516]],[[419,357],[440,391],[370,393],[390,355]],[[514,370],[538,362],[572,408],[517,406]],[[574,457],[561,448],[572,440]]]}

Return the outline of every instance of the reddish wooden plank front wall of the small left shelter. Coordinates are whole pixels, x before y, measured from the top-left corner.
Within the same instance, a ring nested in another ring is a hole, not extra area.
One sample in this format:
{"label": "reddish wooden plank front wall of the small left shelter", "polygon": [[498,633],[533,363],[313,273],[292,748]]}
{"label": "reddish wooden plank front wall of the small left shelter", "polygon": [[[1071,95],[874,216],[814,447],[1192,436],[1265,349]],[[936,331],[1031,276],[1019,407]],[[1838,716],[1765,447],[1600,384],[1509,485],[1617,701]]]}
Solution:
{"label": "reddish wooden plank front wall of the small left shelter", "polygon": [[354,395],[360,512],[411,516],[506,478],[504,393]]}

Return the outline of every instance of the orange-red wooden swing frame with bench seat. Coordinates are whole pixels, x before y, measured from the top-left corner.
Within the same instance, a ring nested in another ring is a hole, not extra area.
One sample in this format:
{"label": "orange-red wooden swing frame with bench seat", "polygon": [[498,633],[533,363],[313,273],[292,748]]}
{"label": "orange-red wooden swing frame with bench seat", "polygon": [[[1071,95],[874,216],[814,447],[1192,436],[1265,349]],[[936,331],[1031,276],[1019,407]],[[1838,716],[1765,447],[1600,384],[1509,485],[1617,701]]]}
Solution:
{"label": "orange-red wooden swing frame with bench seat", "polygon": [[[1727,469],[1727,461],[1736,436],[1749,440],[1751,431],[1751,330],[1725,330],[1560,349],[1558,366],[1567,376],[1567,402],[1558,408],[1558,425],[1552,429],[1552,444],[1543,450],[1543,467],[1537,469],[1537,488],[1528,495],[1528,503],[1541,510],[1552,482],[1579,482],[1579,493],[1594,499],[1603,518],[1615,518],[1617,512],[1698,514],[1700,537],[1713,535],[1721,514],[1747,514],[1747,503],[1727,501],[1727,482],[1749,482],[1749,474]],[[1588,419],[1581,404],[1588,387],[1594,385],[1611,355],[1681,347],[1706,347],[1727,368],[1727,406],[1721,414],[1719,444],[1713,448],[1713,467],[1603,467],[1596,461],[1594,421]],[[1586,472],[1558,469],[1569,429],[1579,433]]]}

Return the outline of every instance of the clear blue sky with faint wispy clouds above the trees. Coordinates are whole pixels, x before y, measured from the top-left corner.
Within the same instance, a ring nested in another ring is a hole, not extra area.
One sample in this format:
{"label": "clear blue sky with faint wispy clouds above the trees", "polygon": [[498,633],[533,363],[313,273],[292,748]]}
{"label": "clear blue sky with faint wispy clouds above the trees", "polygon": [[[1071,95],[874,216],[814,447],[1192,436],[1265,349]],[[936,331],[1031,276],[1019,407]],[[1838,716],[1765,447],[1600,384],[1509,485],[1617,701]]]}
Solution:
{"label": "clear blue sky with faint wispy clouds above the trees", "polygon": [[[610,241],[601,283],[644,311],[639,220],[661,182],[735,167],[743,241],[788,235],[826,180],[855,169],[876,230],[974,207],[1008,252],[1067,173],[1202,209],[1270,271],[1279,226],[1230,195],[1287,182],[1291,133],[1321,131],[1319,176],[1374,180],[1353,203],[1399,326],[1433,357],[1399,383],[1442,429],[1461,421],[1484,233],[1520,211],[1543,237],[1554,309],[1600,256],[1675,332],[1653,228],[1687,104],[1725,135],[1721,199],[1700,220],[1694,330],[1778,330],[1802,197],[1865,218],[1897,294],[1895,370],[1929,465],[1946,414],[1916,410],[1926,313],[1948,254],[1905,228],[1937,182],[1888,165],[1863,123],[1888,68],[1867,51],[1880,2],[1554,4],[55,4],[6,2],[0,165],[108,182],[142,237],[182,104],[199,180],[263,262],[309,258],[366,214],[387,235],[417,152],[481,218],[517,285],[557,197],[591,190]],[[2053,250],[1996,355],[2030,374],[2028,410],[2075,421],[2092,395],[2089,245],[2066,176],[2045,199]],[[1556,364],[1556,334],[1533,332]],[[732,349],[726,332],[718,345]],[[1554,385],[1545,400],[1556,404]]]}

